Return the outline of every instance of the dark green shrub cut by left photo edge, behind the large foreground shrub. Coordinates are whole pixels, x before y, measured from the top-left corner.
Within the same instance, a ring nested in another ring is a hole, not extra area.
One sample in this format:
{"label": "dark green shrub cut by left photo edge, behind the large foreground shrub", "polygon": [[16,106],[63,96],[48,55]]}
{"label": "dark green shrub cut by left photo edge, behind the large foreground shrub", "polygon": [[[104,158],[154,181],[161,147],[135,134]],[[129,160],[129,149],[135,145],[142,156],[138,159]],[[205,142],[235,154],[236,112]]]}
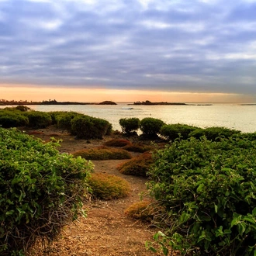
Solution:
{"label": "dark green shrub cut by left photo edge, behind the large foreground shrub", "polygon": [[0,111],[0,126],[3,128],[27,126],[29,119],[19,111]]}

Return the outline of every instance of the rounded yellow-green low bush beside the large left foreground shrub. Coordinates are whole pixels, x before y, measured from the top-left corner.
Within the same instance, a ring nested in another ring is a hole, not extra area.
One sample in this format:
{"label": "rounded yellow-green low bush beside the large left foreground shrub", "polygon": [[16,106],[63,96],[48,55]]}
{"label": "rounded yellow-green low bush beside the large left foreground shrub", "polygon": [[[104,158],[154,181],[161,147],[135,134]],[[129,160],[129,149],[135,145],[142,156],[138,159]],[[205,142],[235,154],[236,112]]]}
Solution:
{"label": "rounded yellow-green low bush beside the large left foreground shrub", "polygon": [[88,179],[92,195],[97,199],[111,200],[126,197],[130,185],[125,179],[106,173],[93,173]]}

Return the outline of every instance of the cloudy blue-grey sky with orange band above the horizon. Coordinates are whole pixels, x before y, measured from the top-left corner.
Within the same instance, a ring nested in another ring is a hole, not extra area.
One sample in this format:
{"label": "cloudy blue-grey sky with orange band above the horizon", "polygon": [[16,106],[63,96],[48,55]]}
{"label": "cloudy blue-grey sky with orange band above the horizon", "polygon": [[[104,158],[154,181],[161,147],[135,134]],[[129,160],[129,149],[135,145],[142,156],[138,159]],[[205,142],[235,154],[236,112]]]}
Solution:
{"label": "cloudy blue-grey sky with orange band above the horizon", "polygon": [[0,99],[256,102],[256,0],[0,0]]}

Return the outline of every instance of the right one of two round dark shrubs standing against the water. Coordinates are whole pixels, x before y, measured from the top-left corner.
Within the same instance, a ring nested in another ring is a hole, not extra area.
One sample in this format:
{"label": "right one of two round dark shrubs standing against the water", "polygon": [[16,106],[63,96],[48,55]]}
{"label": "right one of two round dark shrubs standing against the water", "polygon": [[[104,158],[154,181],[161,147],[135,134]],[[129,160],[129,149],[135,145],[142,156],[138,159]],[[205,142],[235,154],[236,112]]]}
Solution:
{"label": "right one of two round dark shrubs standing against the water", "polygon": [[140,121],[140,130],[143,135],[149,137],[156,137],[160,133],[161,126],[164,126],[164,122],[153,117],[146,117]]}

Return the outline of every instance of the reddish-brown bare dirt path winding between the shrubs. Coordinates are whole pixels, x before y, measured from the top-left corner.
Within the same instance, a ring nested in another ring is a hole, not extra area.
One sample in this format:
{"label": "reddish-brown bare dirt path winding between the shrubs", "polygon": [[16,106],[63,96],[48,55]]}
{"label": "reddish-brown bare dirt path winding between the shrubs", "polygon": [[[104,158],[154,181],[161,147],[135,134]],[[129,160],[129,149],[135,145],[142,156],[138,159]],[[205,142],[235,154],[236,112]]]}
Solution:
{"label": "reddish-brown bare dirt path winding between the shrubs", "polygon": [[[30,131],[31,132],[31,131]],[[111,137],[103,140],[76,140],[68,133],[60,130],[37,130],[35,137],[49,141],[50,137],[61,139],[61,152],[71,153],[83,148],[98,147]],[[136,155],[136,154],[134,154]],[[37,246],[31,255],[49,256],[150,256],[162,255],[147,251],[145,241],[152,240],[157,232],[149,223],[142,223],[124,214],[124,210],[133,202],[140,201],[140,194],[147,192],[146,178],[122,175],[116,166],[123,160],[92,161],[95,164],[95,172],[106,172],[118,175],[130,182],[130,195],[123,199],[110,201],[92,200],[86,202],[86,218],[80,217],[71,223],[54,241],[47,247]]]}

